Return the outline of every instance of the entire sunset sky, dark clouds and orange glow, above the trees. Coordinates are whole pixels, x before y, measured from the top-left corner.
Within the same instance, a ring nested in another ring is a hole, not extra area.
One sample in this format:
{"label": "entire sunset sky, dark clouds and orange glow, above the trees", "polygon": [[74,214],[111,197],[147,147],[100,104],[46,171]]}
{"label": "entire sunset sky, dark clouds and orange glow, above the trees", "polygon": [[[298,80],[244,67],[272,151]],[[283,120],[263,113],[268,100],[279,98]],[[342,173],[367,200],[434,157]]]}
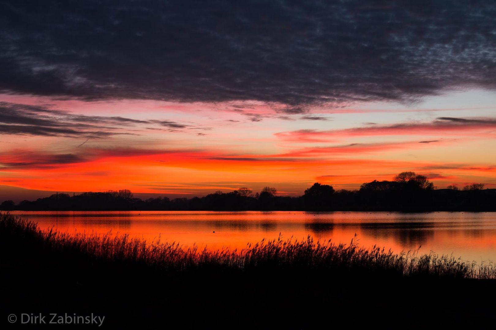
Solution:
{"label": "entire sunset sky, dark clouds and orange glow, above the trees", "polygon": [[2,1],[0,199],[496,188],[488,1]]}

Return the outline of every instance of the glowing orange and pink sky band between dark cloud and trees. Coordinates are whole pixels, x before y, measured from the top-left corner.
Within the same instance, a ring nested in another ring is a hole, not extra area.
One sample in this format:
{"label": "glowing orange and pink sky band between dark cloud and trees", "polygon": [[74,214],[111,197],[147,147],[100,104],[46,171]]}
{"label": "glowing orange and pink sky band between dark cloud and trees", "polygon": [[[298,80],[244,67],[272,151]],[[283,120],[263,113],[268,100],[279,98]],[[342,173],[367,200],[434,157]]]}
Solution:
{"label": "glowing orange and pink sky band between dark cloud and trees", "polygon": [[[496,188],[494,92],[444,94],[414,105],[322,106],[293,115],[281,115],[277,104],[248,101],[0,96],[24,120],[1,135],[4,190],[193,196],[272,186],[299,195],[313,182],[357,189],[405,170],[427,175],[437,188],[474,182]],[[37,131],[26,133],[26,125]]]}

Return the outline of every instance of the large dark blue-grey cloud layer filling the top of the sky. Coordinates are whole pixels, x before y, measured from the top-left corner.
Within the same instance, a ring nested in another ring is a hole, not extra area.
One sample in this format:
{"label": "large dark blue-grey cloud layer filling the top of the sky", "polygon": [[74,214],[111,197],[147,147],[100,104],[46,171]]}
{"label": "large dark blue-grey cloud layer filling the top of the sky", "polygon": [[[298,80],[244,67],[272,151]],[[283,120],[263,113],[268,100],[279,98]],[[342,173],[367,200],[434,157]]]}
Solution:
{"label": "large dark blue-grey cloud layer filling the top of the sky", "polygon": [[[5,1],[0,91],[410,101],[496,84],[491,1]],[[258,120],[252,117],[251,120]]]}

